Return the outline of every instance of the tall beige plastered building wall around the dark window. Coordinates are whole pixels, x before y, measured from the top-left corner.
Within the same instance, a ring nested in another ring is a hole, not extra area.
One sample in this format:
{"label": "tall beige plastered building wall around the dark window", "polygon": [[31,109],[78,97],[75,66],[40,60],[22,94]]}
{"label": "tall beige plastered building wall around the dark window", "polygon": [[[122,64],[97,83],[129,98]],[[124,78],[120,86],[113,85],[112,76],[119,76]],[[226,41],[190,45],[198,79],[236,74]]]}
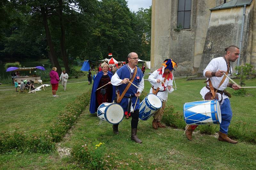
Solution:
{"label": "tall beige plastered building wall around the dark window", "polygon": [[152,0],[151,71],[166,58],[178,63],[176,75],[194,75],[200,66],[212,0],[192,0],[191,27],[177,29],[178,0]]}

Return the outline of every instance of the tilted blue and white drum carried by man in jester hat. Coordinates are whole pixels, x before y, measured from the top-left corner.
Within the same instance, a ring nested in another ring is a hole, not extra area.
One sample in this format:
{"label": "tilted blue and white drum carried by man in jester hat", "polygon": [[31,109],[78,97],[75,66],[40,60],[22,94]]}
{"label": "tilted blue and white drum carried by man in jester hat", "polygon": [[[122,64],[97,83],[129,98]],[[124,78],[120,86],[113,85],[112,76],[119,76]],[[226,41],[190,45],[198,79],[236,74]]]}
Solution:
{"label": "tilted blue and white drum carried by man in jester hat", "polygon": [[150,93],[140,102],[139,118],[143,121],[146,121],[161,107],[162,101],[159,99],[159,97]]}

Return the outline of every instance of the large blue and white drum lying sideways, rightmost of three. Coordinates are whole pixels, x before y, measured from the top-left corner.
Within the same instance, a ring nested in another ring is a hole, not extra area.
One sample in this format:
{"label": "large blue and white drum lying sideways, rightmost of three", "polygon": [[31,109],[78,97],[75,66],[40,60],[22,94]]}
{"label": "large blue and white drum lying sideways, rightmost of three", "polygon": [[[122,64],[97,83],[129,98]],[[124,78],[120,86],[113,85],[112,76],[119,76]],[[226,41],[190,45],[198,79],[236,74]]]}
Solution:
{"label": "large blue and white drum lying sideways, rightmost of three", "polygon": [[209,125],[221,123],[218,100],[204,100],[185,103],[184,120],[188,125]]}

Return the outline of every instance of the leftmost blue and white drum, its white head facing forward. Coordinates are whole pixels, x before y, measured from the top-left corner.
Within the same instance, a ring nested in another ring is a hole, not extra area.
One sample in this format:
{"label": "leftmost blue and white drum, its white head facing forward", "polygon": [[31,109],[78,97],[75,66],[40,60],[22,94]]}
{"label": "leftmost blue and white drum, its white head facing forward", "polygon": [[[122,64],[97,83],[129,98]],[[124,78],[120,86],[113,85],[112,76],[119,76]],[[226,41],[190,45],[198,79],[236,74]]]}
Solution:
{"label": "leftmost blue and white drum, its white head facing forward", "polygon": [[124,109],[117,103],[102,103],[98,107],[97,116],[101,121],[118,124],[124,118]]}

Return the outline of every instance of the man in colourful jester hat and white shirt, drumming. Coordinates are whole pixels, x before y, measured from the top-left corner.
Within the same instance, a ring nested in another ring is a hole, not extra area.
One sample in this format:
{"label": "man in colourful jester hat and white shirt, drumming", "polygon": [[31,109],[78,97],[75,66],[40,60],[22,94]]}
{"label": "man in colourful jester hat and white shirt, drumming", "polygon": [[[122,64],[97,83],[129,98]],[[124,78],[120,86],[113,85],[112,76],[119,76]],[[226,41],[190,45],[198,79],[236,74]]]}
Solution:
{"label": "man in colourful jester hat and white shirt, drumming", "polygon": [[154,120],[152,122],[152,125],[154,129],[165,128],[165,126],[161,124],[161,120],[164,114],[164,107],[166,106],[168,93],[174,91],[174,88],[172,87],[172,82],[174,81],[172,70],[174,70],[175,66],[177,67],[177,64],[172,61],[172,59],[166,59],[164,60],[164,63],[162,65],[163,67],[155,70],[148,77],[148,81],[152,85],[149,93],[157,95],[162,101],[162,108],[160,108],[153,115]]}

